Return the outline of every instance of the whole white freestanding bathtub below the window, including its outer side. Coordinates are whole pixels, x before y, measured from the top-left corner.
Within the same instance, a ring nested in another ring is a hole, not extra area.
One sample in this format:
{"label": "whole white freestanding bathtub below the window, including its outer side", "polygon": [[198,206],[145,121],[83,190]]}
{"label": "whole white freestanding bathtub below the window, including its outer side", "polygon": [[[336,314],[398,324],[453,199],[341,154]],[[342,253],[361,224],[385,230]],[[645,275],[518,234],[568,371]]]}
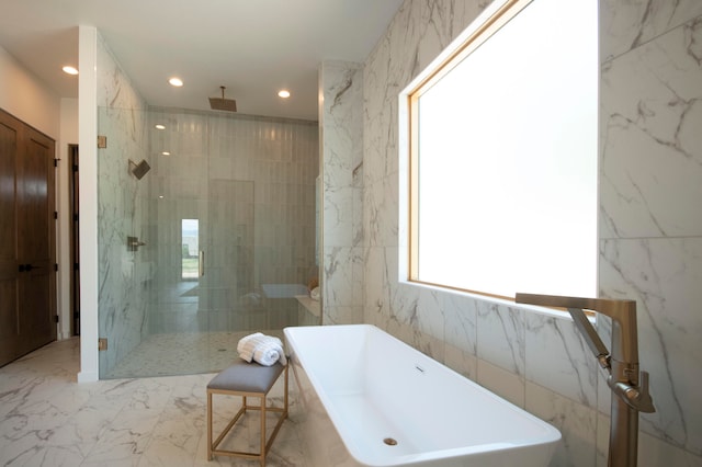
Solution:
{"label": "whole white freestanding bathtub below the window, including its outer side", "polygon": [[286,328],[306,467],[547,466],[548,423],[370,324]]}

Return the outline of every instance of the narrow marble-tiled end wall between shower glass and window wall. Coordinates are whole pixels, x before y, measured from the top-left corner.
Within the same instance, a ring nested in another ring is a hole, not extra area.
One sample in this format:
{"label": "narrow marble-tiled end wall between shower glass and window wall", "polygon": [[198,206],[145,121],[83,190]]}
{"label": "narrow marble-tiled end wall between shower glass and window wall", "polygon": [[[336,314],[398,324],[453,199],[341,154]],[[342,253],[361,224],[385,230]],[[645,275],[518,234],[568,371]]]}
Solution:
{"label": "narrow marble-tiled end wall between shower glass and window wall", "polygon": [[363,321],[363,66],[319,70],[322,158],[322,304],[326,324]]}

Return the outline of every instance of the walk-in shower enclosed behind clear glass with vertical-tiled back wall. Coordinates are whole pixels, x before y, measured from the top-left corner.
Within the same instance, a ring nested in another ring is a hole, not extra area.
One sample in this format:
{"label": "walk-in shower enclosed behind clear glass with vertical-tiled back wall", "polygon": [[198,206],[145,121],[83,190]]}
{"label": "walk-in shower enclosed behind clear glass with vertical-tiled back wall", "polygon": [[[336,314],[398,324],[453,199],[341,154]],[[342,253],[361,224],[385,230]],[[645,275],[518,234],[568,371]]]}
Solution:
{"label": "walk-in shower enclosed behind clear glass with vertical-tiled back wall", "polygon": [[302,320],[316,122],[99,109],[99,134],[101,378],[217,371],[240,337]]}

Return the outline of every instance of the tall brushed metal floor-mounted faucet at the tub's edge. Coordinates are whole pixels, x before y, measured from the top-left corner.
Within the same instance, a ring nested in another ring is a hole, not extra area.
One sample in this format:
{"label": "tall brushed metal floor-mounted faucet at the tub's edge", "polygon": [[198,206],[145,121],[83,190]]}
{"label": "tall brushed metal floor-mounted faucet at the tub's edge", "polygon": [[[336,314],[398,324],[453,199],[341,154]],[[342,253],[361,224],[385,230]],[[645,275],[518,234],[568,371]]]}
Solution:
{"label": "tall brushed metal floor-mounted faucet at the tub's edge", "polygon": [[[655,412],[648,392],[648,373],[638,368],[638,332],[636,301],[602,298],[561,297],[555,295],[517,294],[518,304],[567,308],[576,328],[607,372],[612,389],[610,467],[635,467],[638,447],[638,412]],[[584,309],[612,318],[612,352],[598,335]]]}

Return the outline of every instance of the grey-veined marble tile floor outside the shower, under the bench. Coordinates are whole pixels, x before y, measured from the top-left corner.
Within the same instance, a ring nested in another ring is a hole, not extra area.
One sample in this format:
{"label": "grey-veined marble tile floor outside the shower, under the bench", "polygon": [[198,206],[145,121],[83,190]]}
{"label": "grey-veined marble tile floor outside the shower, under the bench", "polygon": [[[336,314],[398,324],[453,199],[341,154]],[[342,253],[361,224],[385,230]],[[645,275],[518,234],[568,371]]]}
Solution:
{"label": "grey-veined marble tile floor outside the shower, under the bench", "polygon": [[[147,353],[140,355],[148,361]],[[259,465],[206,458],[206,386],[214,373],[78,384],[79,365],[80,341],[69,339],[0,368],[0,466]],[[273,403],[281,403],[282,388],[280,383],[272,389]],[[215,426],[224,424],[240,399],[217,402]],[[305,466],[296,409],[292,403],[267,466]],[[247,417],[225,443],[247,448],[258,441],[259,419]]]}

